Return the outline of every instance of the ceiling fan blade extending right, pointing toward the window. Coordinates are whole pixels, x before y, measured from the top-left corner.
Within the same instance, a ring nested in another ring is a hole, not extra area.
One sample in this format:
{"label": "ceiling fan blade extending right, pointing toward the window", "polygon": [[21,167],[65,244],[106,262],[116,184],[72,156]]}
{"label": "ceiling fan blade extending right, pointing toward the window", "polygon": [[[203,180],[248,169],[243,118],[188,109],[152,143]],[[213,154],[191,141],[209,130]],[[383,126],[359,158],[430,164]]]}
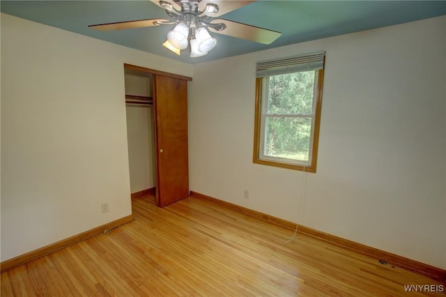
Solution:
{"label": "ceiling fan blade extending right, pointing toward the window", "polygon": [[277,31],[263,29],[258,26],[251,26],[249,24],[243,24],[224,19],[212,20],[210,24],[224,24],[224,26],[226,26],[226,28],[222,29],[221,31],[218,31],[212,26],[208,26],[208,29],[215,33],[251,40],[255,41],[256,43],[263,43],[265,45],[269,45],[282,35],[282,33]]}

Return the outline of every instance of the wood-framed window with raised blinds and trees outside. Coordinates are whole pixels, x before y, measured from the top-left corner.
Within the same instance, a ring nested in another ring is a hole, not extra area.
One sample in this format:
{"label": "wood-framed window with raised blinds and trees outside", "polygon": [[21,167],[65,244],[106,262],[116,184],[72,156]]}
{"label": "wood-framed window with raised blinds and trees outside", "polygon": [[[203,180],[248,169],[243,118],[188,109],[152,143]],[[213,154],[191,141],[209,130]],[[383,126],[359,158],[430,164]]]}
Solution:
{"label": "wood-framed window with raised blinds and trees outside", "polygon": [[316,172],[325,52],[256,67],[253,162]]}

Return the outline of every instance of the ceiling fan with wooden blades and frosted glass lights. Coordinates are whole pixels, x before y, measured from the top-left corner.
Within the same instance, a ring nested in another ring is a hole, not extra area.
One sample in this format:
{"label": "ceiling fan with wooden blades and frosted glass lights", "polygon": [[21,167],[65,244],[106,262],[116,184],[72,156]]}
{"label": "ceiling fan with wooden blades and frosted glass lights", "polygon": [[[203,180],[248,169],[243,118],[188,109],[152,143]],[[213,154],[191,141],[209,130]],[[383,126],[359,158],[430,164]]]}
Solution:
{"label": "ceiling fan with wooden blades and frosted glass lights", "polygon": [[277,31],[220,18],[221,15],[246,6],[256,0],[150,1],[164,8],[171,20],[134,20],[109,24],[94,24],[89,27],[100,31],[112,31],[146,26],[175,25],[174,29],[167,33],[167,40],[162,45],[178,55],[181,50],[187,49],[190,45],[190,56],[192,58],[208,54],[217,44],[217,40],[210,36],[208,30],[266,45],[269,45],[282,35],[282,33]]}

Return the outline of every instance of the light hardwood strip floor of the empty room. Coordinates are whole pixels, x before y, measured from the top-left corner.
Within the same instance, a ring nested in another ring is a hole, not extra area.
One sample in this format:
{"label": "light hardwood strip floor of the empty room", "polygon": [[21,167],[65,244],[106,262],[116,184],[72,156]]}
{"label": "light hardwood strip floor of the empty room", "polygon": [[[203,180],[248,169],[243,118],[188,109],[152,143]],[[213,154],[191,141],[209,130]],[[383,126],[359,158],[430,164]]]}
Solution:
{"label": "light hardwood strip floor of the empty room", "polygon": [[403,296],[404,284],[440,284],[300,234],[284,245],[293,231],[211,201],[157,208],[146,196],[133,213],[1,273],[1,296]]}

